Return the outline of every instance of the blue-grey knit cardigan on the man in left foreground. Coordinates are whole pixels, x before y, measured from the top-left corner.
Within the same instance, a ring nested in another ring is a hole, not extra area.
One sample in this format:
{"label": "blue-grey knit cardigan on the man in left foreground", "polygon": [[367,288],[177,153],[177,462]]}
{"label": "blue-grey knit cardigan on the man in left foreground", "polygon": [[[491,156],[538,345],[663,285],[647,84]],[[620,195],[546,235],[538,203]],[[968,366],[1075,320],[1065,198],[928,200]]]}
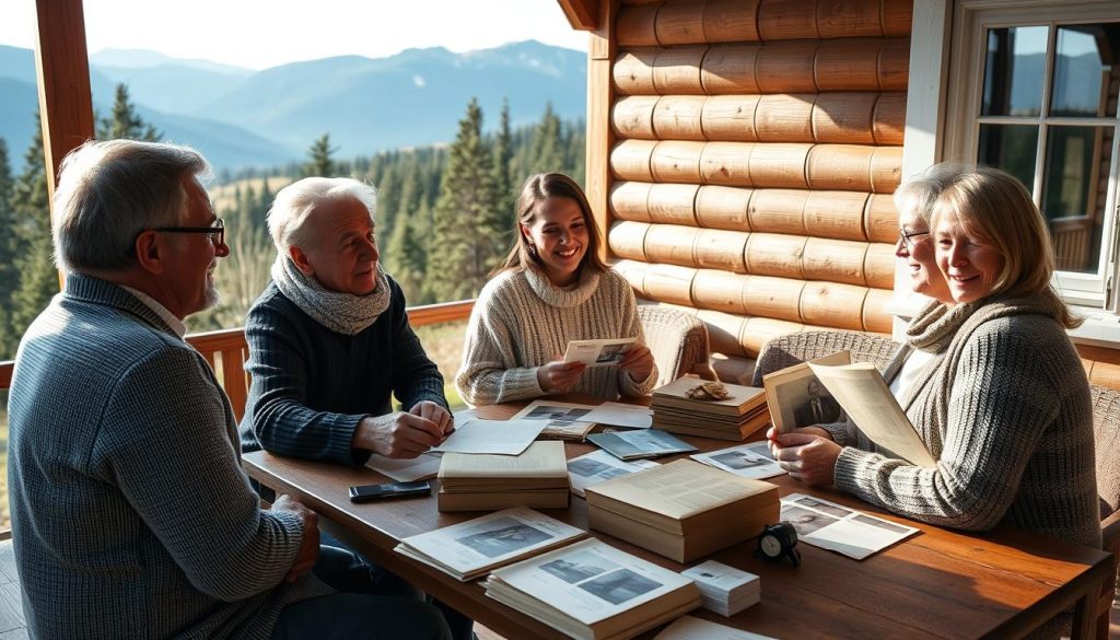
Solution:
{"label": "blue-grey knit cardigan on the man in left foreground", "polygon": [[268,638],[329,592],[281,584],[300,520],[261,511],[209,367],[121,287],[67,277],[20,343],[9,411],[31,637]]}

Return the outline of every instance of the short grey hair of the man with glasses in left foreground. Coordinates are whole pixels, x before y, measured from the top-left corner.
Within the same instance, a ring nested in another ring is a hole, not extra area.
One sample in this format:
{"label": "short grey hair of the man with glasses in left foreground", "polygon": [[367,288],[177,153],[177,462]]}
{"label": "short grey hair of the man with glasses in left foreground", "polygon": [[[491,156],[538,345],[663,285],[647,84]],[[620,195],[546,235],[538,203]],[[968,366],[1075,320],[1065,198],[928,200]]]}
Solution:
{"label": "short grey hair of the man with glasses in left foreground", "polygon": [[186,216],[183,179],[209,175],[209,164],[189,147],[91,140],[74,149],[55,189],[55,263],[74,271],[132,267],[140,232]]}

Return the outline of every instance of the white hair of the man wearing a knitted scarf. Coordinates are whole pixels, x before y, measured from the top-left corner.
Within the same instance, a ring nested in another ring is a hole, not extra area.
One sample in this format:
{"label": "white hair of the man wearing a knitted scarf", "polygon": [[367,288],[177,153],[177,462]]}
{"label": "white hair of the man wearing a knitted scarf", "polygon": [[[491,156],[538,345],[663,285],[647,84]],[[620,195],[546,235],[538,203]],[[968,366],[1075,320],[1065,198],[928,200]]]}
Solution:
{"label": "white hair of the man wearing a knitted scarf", "polygon": [[277,193],[269,208],[269,234],[281,256],[290,247],[302,247],[310,240],[312,215],[328,202],[354,198],[365,205],[373,222],[377,211],[377,191],[353,178],[304,178]]}

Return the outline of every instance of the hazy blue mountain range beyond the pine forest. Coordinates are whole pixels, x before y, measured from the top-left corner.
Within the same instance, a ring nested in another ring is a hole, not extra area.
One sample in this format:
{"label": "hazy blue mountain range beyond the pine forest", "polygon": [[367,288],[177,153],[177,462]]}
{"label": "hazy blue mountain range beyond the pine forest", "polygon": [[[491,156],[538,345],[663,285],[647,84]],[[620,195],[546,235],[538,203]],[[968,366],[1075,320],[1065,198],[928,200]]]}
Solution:
{"label": "hazy blue mountain range beyond the pine forest", "polygon": [[[407,49],[384,58],[339,56],[262,71],[137,49],[90,57],[94,109],[108,114],[114,87],[167,141],[192,145],[218,168],[273,166],[306,157],[330,135],[336,157],[454,140],[477,98],[487,129],[503,101],[513,127],[536,122],[551,103],[562,119],[584,118],[585,54],[535,40],[455,54]],[[15,171],[35,131],[38,104],[30,49],[0,45],[0,138]]]}

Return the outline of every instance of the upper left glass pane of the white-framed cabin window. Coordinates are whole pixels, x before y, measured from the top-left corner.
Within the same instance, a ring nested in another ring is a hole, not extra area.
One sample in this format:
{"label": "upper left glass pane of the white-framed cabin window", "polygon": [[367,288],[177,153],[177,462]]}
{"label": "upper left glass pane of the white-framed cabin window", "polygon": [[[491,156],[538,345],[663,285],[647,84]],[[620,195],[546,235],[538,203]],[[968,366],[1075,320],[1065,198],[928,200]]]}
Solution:
{"label": "upper left glass pane of the white-framed cabin window", "polygon": [[1049,27],[988,29],[981,115],[1038,115]]}

